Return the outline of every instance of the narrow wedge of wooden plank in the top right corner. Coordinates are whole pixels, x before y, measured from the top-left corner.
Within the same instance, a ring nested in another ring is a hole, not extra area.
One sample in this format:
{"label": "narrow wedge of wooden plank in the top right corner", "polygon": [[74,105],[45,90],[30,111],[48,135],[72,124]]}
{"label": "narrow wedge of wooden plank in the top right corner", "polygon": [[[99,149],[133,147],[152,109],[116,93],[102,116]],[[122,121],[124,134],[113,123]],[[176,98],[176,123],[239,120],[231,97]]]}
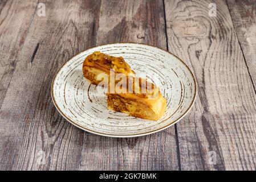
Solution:
{"label": "narrow wedge of wooden plank in the top right corner", "polygon": [[227,1],[256,93],[256,0]]}

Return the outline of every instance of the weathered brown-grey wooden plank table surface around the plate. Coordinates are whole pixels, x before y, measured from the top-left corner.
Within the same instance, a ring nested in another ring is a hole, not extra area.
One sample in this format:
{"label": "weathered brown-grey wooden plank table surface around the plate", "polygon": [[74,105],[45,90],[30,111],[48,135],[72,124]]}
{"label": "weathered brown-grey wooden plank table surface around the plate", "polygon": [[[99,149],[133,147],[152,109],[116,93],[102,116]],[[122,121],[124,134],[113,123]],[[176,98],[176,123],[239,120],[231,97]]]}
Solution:
{"label": "weathered brown-grey wooden plank table surface around the plate", "polygon": [[[115,42],[184,59],[198,81],[184,119],[121,139],[61,117],[50,94],[57,69],[84,49]],[[255,0],[3,0],[0,48],[0,169],[256,169]]]}

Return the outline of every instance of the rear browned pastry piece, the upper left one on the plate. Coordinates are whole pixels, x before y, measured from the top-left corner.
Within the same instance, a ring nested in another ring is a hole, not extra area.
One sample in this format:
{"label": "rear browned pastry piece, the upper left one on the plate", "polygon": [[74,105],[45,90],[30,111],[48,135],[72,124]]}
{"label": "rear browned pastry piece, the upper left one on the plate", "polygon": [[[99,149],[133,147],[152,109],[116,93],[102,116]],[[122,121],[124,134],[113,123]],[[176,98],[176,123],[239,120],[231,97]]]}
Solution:
{"label": "rear browned pastry piece, the upper left one on the plate", "polygon": [[[98,85],[102,81],[109,80],[109,72],[123,73],[124,75],[135,76],[135,72],[124,61],[123,57],[114,57],[96,51],[88,55],[83,63],[83,75],[92,84]],[[107,75],[108,80],[104,80]]]}

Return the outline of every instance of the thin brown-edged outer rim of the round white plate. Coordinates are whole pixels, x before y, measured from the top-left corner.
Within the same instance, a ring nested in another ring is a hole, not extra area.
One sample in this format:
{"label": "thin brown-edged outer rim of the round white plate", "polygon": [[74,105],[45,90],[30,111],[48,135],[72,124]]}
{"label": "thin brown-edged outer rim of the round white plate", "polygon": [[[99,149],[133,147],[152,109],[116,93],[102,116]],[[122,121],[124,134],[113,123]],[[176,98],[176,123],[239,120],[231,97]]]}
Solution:
{"label": "thin brown-edged outer rim of the round white plate", "polygon": [[[156,130],[153,130],[153,131],[149,131],[149,132],[146,132],[146,133],[142,133],[142,134],[131,134],[131,135],[111,135],[111,134],[104,134],[104,133],[100,133],[100,132],[97,132],[97,131],[93,131],[93,130],[90,130],[90,129],[87,129],[86,127],[84,126],[81,126],[79,125],[78,123],[75,123],[74,121],[72,121],[72,119],[68,118],[60,109],[59,109],[59,106],[56,104],[56,101],[55,101],[55,98],[54,98],[54,94],[53,94],[53,85],[54,85],[54,82],[55,82],[55,78],[56,78],[56,75],[58,75],[59,71],[64,67],[64,65],[66,65],[68,63],[68,61],[70,61],[71,59],[73,59],[75,56],[79,55],[80,53],[83,53],[83,52],[86,52],[90,49],[93,49],[93,48],[96,48],[96,47],[100,47],[100,46],[108,46],[108,45],[113,45],[113,44],[139,44],[139,45],[143,45],[143,46],[149,46],[149,47],[153,47],[153,48],[157,48],[157,49],[161,49],[162,51],[165,51],[167,53],[169,53],[170,55],[176,57],[178,60],[181,61],[182,64],[185,65],[186,68],[188,68],[188,71],[191,73],[192,75],[192,78],[193,78],[193,82],[194,82],[194,95],[193,95],[193,100],[192,102],[190,103],[188,109],[185,111],[184,114],[182,114],[178,119],[176,119],[175,121],[173,121],[172,123],[169,123],[169,125],[166,125],[160,129],[156,129]],[[141,136],[144,136],[144,135],[150,135],[150,134],[153,134],[153,133],[157,133],[159,131],[162,131],[164,129],[167,129],[168,127],[176,124],[178,121],[180,121],[182,118],[185,117],[186,114],[188,114],[188,112],[192,109],[192,106],[194,105],[194,102],[196,101],[196,97],[197,97],[197,81],[196,81],[196,77],[194,76],[194,73],[192,72],[192,70],[189,68],[189,66],[184,62],[184,60],[182,60],[180,57],[178,57],[177,55],[174,55],[174,53],[172,52],[169,52],[169,51],[166,51],[165,49],[163,48],[160,48],[160,47],[156,47],[156,46],[152,46],[152,45],[149,45],[149,44],[144,44],[144,43],[134,43],[134,42],[118,42],[118,43],[109,43],[109,44],[100,44],[98,46],[94,46],[94,47],[90,47],[82,52],[79,52],[77,53],[76,55],[72,56],[70,59],[68,59],[67,61],[65,61],[62,66],[56,71],[54,77],[52,78],[52,81],[51,81],[51,98],[52,98],[52,102],[54,103],[54,106],[56,107],[56,109],[59,111],[59,113],[62,115],[63,118],[65,118],[68,122],[70,122],[72,125],[78,127],[79,129],[82,129],[84,131],[87,131],[88,133],[92,133],[92,134],[96,134],[96,135],[100,135],[100,136],[103,136],[103,137],[112,137],[112,138],[131,138],[131,137],[141,137]]]}

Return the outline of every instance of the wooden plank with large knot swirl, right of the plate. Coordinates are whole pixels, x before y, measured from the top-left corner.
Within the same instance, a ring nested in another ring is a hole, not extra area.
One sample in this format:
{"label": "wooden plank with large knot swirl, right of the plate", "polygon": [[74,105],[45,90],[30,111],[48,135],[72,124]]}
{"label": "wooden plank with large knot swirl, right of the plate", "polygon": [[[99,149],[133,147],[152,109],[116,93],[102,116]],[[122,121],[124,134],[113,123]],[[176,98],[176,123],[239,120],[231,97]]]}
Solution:
{"label": "wooden plank with large knot swirl, right of the plate", "polygon": [[255,170],[256,97],[226,2],[165,0],[165,11],[169,51],[198,81],[196,104],[177,123],[181,169]]}

